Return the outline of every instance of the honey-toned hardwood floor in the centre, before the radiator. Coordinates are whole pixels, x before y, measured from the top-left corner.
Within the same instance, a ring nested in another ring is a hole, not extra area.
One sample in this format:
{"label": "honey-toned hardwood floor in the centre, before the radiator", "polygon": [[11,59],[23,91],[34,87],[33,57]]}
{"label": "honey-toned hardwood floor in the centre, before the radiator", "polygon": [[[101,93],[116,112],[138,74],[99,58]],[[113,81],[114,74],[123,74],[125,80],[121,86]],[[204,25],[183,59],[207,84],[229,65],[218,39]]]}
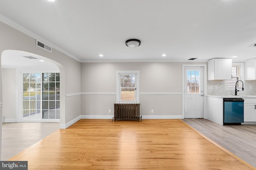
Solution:
{"label": "honey-toned hardwood floor in the centre, before the radiator", "polygon": [[177,119],[81,119],[9,160],[31,170],[250,169]]}

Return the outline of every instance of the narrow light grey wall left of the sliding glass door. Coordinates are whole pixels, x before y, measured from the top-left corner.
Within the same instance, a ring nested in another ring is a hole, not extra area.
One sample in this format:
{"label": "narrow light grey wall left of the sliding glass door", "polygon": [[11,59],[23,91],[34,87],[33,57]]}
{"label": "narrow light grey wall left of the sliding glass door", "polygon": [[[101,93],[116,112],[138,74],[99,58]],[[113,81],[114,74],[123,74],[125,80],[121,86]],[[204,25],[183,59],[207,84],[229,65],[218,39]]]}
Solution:
{"label": "narrow light grey wall left of the sliding glass door", "polygon": [[16,120],[16,69],[3,68],[2,69],[2,87],[3,87],[3,106],[2,113],[5,122],[13,122]]}

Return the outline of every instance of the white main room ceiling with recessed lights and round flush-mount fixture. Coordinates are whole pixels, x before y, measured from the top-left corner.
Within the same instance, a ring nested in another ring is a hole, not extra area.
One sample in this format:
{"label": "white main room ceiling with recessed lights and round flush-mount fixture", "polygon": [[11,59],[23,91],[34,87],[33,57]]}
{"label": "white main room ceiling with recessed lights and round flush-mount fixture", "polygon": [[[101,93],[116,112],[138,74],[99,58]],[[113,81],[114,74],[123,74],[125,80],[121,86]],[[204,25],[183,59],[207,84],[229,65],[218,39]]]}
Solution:
{"label": "white main room ceiling with recessed lights and round flush-mount fixture", "polygon": [[[256,0],[1,0],[0,19],[80,62],[245,61],[256,57],[255,7]],[[132,38],[141,45],[126,47]]]}

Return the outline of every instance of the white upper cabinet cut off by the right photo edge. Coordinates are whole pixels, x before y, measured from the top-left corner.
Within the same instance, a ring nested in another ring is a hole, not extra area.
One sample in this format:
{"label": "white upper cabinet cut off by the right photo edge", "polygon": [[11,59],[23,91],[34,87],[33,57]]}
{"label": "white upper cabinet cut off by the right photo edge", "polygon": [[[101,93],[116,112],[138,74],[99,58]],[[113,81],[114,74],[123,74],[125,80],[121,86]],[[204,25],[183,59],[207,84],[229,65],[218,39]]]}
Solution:
{"label": "white upper cabinet cut off by the right photo edge", "polygon": [[256,59],[246,60],[244,63],[244,80],[256,80]]}

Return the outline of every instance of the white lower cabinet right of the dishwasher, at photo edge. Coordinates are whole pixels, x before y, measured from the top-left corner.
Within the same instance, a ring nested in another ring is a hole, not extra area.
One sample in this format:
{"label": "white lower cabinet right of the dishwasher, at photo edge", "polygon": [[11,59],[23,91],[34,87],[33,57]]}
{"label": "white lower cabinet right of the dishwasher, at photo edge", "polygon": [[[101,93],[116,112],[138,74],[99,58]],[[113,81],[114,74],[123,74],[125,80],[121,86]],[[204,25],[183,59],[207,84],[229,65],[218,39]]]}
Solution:
{"label": "white lower cabinet right of the dishwasher, at photo edge", "polygon": [[244,99],[244,121],[256,121],[256,99]]}

